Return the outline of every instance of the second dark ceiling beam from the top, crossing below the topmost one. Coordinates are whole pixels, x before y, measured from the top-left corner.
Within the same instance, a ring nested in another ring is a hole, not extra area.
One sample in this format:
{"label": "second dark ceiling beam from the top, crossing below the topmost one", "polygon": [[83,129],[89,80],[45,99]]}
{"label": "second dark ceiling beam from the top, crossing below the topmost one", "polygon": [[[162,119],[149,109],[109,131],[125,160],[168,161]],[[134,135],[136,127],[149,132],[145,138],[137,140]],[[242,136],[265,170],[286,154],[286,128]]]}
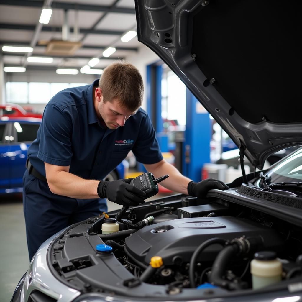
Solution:
{"label": "second dark ceiling beam from the top, crossing below the topmost one", "polygon": [[[36,28],[35,25],[28,24],[8,24],[8,23],[0,23],[0,29],[15,29],[18,31],[34,31]],[[60,26],[43,26],[42,31],[47,32],[62,32],[62,27]],[[70,28],[70,32],[73,33],[73,28]],[[80,28],[80,34],[101,34],[101,35],[121,35],[124,31],[108,31],[108,30],[96,30],[96,29],[88,29],[88,28]]]}

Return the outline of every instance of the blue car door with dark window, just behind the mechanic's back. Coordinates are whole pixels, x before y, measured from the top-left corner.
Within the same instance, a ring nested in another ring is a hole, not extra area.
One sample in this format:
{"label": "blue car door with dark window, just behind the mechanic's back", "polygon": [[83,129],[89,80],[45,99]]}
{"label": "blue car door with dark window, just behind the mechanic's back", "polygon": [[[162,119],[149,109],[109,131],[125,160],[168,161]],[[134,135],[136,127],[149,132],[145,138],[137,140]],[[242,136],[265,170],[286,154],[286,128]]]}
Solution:
{"label": "blue car door with dark window, just behind the mechanic's back", "polygon": [[31,142],[36,139],[40,123],[15,121],[12,123],[11,143],[11,188],[21,190],[22,177],[25,171],[27,149]]}

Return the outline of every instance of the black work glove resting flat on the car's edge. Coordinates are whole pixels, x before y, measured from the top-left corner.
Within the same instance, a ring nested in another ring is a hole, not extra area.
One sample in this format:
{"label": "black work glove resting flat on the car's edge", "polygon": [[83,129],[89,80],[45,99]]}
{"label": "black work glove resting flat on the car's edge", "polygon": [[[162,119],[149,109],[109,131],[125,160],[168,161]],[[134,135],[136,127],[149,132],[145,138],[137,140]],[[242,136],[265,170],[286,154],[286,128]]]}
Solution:
{"label": "black work glove resting flat on the car's edge", "polygon": [[221,182],[220,180],[208,178],[201,182],[189,182],[188,183],[188,194],[198,198],[205,198],[207,192],[211,189],[225,190],[229,187]]}

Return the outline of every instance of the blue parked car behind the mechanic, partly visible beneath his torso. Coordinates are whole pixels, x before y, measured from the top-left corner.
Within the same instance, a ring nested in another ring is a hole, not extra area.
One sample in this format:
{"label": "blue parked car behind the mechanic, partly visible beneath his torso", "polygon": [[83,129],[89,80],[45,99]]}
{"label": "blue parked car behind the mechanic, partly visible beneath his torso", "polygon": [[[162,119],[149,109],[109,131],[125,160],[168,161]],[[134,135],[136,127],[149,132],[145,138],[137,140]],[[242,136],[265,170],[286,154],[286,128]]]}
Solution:
{"label": "blue parked car behind the mechanic, partly visible beneath his torso", "polygon": [[[1,117],[0,119],[0,194],[22,192],[27,149],[36,139],[40,118]],[[121,162],[105,180],[124,178],[128,162]]]}

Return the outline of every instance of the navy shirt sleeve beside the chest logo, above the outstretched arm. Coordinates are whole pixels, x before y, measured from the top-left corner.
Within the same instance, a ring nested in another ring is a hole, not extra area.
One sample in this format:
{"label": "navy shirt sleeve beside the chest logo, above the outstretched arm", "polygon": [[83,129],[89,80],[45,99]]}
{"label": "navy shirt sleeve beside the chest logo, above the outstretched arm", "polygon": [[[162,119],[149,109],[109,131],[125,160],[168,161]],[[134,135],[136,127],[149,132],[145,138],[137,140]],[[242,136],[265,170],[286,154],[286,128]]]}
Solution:
{"label": "navy shirt sleeve beside the chest logo, above the outstretched arm", "polygon": [[162,153],[156,139],[156,132],[147,114],[143,115],[139,131],[137,141],[132,148],[137,161],[147,165],[160,162],[163,159]]}

